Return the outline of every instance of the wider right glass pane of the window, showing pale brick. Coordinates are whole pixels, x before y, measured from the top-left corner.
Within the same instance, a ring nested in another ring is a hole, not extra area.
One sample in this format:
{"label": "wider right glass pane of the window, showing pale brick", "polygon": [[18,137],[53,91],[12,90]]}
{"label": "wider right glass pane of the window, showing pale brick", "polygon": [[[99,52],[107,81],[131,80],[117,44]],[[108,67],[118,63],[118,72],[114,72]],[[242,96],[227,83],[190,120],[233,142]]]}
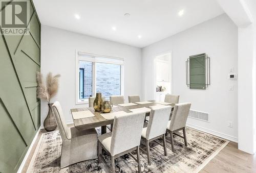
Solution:
{"label": "wider right glass pane of the window, showing pale brick", "polygon": [[121,65],[95,63],[96,92],[101,92],[106,100],[110,95],[121,94]]}

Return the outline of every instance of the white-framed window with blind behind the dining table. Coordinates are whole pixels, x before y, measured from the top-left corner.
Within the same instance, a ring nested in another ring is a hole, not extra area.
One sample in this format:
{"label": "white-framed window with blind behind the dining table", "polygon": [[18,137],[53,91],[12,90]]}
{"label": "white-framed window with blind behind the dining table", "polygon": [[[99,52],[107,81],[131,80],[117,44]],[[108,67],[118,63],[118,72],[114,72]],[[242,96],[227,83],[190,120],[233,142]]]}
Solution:
{"label": "white-framed window with blind behind the dining table", "polygon": [[76,104],[88,102],[101,92],[105,100],[110,95],[122,95],[123,59],[77,52]]}

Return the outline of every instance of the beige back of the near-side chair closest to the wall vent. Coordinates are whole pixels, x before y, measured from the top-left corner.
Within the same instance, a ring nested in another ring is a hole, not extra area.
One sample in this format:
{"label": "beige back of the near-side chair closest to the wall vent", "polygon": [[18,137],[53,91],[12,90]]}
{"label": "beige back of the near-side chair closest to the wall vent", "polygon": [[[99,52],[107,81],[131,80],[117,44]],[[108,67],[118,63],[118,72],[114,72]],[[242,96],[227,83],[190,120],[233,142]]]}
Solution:
{"label": "beige back of the near-side chair closest to the wall vent", "polygon": [[175,131],[186,126],[190,106],[191,103],[180,103],[175,105],[173,116],[170,120],[170,131]]}

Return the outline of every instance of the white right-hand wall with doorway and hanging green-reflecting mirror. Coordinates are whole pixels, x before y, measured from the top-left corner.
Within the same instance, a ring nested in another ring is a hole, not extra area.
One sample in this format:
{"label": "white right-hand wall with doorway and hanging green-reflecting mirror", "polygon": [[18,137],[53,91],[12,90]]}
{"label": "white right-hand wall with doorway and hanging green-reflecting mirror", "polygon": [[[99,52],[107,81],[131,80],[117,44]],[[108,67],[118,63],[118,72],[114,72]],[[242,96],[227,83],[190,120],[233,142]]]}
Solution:
{"label": "white right-hand wall with doorway and hanging green-reflecting mirror", "polygon": [[[180,103],[192,103],[191,109],[209,113],[209,122],[188,118],[188,124],[201,130],[237,141],[237,81],[227,79],[229,69],[238,71],[238,27],[226,15],[146,46],[142,50],[143,96],[153,98],[153,58],[168,51],[173,52],[173,93],[180,95]],[[186,87],[186,59],[206,53],[210,57],[210,82],[206,90]],[[239,77],[239,74],[238,74]],[[234,90],[229,90],[229,85]],[[233,121],[233,128],[227,121]]]}

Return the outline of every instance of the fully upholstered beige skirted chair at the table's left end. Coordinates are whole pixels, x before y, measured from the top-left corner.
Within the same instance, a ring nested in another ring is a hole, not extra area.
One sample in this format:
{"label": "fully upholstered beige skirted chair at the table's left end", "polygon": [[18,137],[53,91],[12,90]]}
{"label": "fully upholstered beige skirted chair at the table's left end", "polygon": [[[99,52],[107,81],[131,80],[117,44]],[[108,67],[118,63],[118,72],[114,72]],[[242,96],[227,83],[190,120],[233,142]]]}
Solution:
{"label": "fully upholstered beige skirted chair at the table's left end", "polygon": [[96,159],[98,142],[96,130],[79,131],[75,127],[69,128],[59,102],[55,102],[51,110],[62,138],[60,168],[84,160]]}

